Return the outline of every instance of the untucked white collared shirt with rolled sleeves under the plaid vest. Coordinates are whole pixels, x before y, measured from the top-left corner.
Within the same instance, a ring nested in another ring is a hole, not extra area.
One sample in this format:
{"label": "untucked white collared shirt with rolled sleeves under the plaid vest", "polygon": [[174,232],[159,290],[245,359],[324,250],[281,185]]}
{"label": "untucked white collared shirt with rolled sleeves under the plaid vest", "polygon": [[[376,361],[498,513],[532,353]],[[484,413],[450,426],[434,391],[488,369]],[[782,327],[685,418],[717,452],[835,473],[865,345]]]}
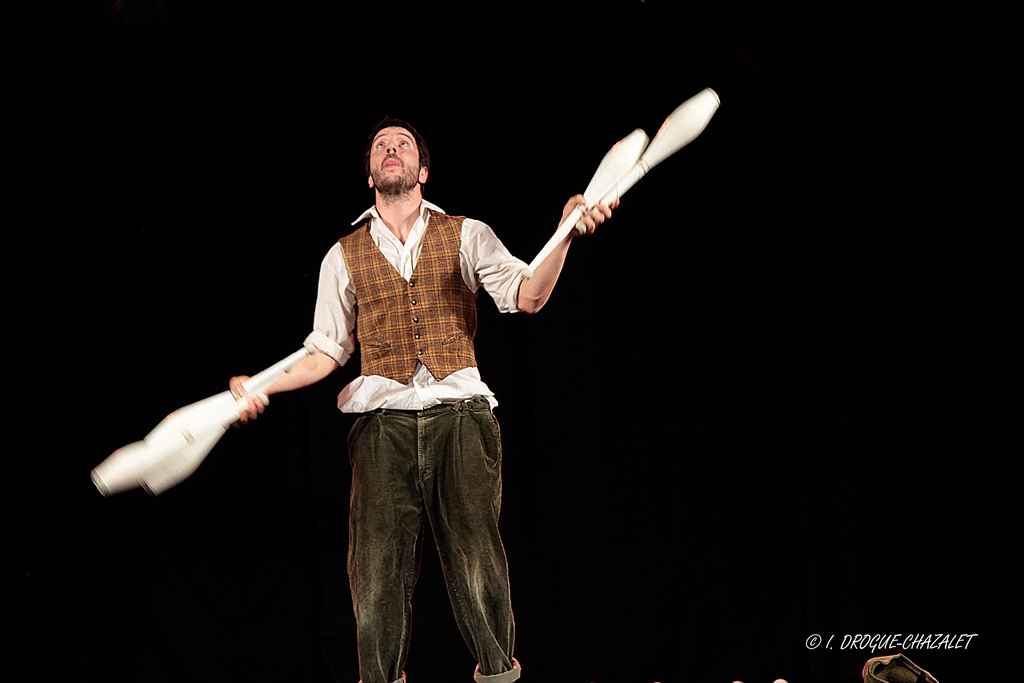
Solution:
{"label": "untucked white collared shirt with rolled sleeves under the plaid vest", "polygon": [[[370,237],[381,254],[408,282],[423,248],[429,214],[427,209],[444,213],[424,201],[420,217],[402,244],[388,229],[376,207],[362,212],[352,224],[370,218]],[[480,287],[490,295],[502,312],[518,310],[516,301],[522,269],[526,263],[512,256],[485,223],[472,218],[462,222],[459,262],[466,286],[476,292]],[[345,365],[355,351],[352,330],[355,328],[355,290],[352,286],[341,245],[335,244],[321,263],[313,331],[306,338],[313,346],[340,365]],[[367,413],[378,408],[401,411],[422,411],[440,402],[458,401],[484,396],[495,407],[494,392],[480,379],[476,368],[464,368],[438,381],[423,364],[417,364],[409,384],[399,384],[380,375],[360,375],[338,394],[338,409],[344,413]]]}

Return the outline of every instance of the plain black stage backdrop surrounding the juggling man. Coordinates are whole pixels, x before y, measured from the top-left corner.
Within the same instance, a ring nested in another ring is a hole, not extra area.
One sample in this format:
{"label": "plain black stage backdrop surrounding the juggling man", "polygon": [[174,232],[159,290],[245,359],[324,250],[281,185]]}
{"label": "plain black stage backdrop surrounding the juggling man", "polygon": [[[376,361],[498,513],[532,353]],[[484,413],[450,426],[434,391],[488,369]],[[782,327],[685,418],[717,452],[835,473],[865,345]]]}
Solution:
{"label": "plain black stage backdrop surrounding the juggling man", "polygon": [[[942,683],[1002,654],[992,480],[1020,468],[988,465],[977,16],[36,11],[12,27],[11,680],[354,683],[335,395],[357,366],[275,396],[160,498],[104,499],[89,470],[301,345],[385,115],[430,144],[427,199],[528,261],[612,143],[706,87],[707,130],[573,244],[541,314],[481,299],[523,680],[852,682],[902,649],[843,649],[854,634],[978,634],[903,649]],[[470,680],[429,552],[414,605],[410,681]]]}

